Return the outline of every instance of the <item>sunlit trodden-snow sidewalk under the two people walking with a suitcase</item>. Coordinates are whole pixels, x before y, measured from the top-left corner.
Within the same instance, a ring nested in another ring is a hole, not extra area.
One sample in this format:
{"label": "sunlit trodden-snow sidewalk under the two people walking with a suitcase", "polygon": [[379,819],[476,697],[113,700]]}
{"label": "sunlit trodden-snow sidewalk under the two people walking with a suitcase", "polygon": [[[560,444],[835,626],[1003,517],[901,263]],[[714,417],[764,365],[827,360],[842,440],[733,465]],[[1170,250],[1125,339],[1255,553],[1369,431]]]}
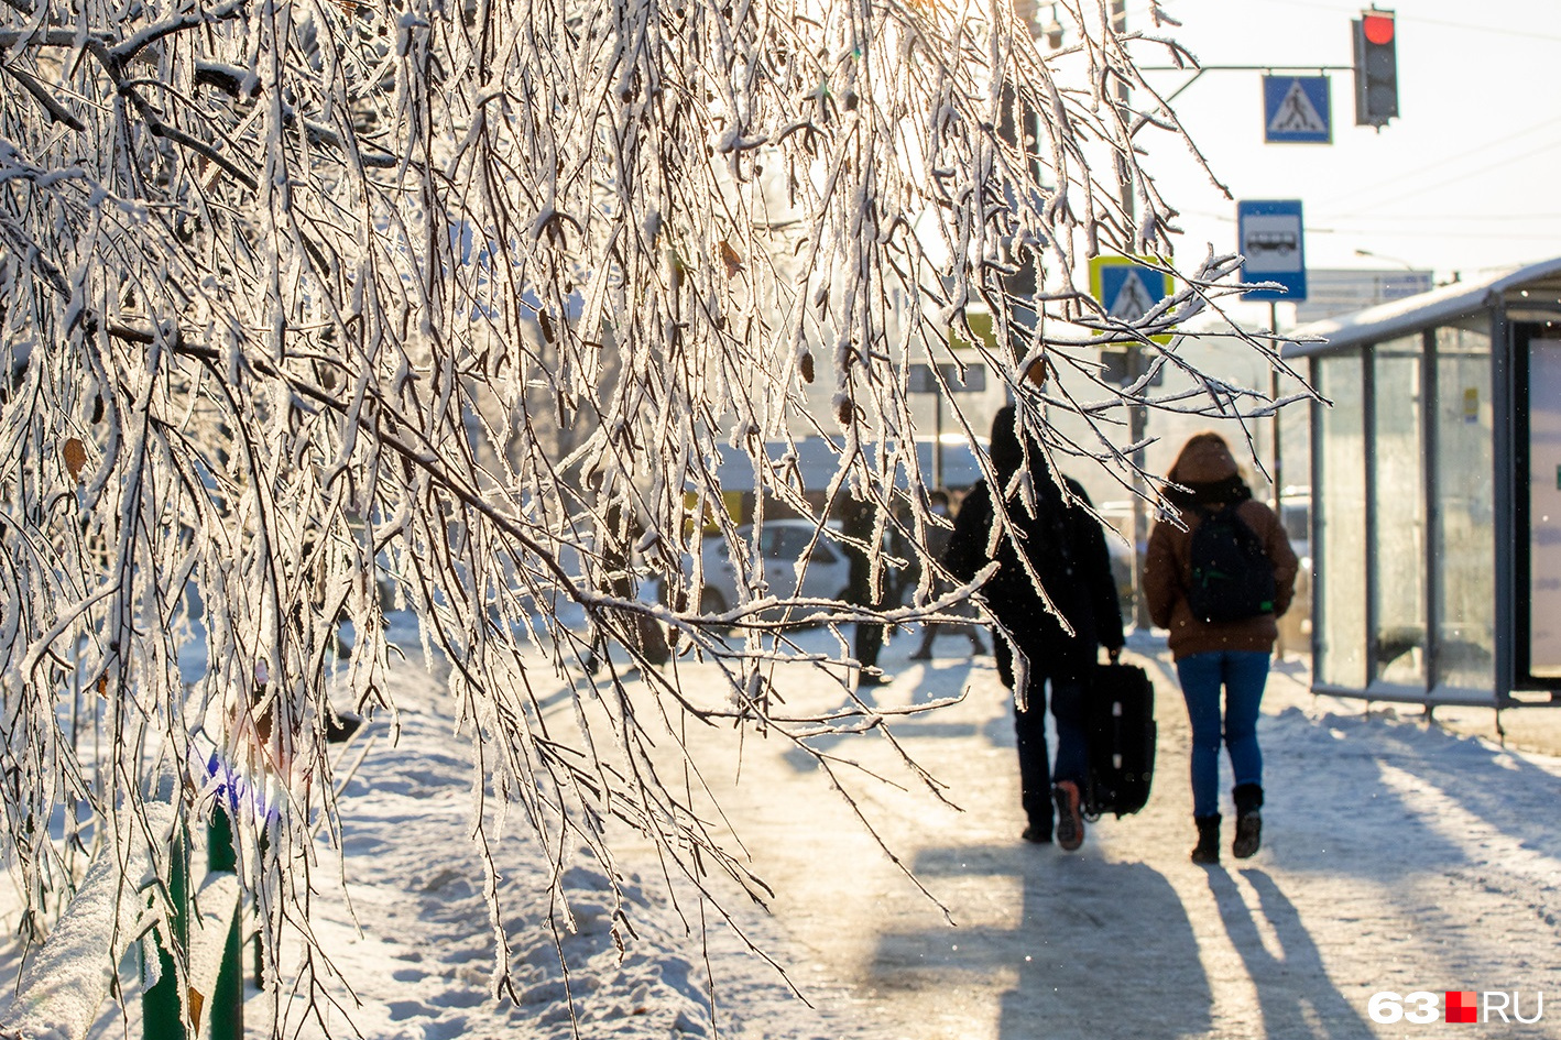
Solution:
{"label": "sunlit trodden-snow sidewalk under the two people walking with a suitcase", "polygon": [[[941,646],[955,643],[963,651],[962,640]],[[1154,795],[1068,854],[1018,839],[1010,707],[990,659],[923,667],[904,661],[912,645],[885,651],[896,681],[877,698],[904,704],[969,684],[965,703],[894,726],[963,812],[871,782],[852,792],[952,926],[807,756],[749,742],[741,784],[718,792],[776,887],[793,943],[782,960],[826,1007],[855,1007],[855,1035],[1397,1037],[1431,1026],[1372,1023],[1378,990],[1522,990],[1528,1013],[1536,990],[1561,1001],[1561,760],[1380,706],[1366,715],[1314,698],[1299,671],[1275,671],[1260,731],[1264,848],[1232,860],[1227,826],[1225,862],[1207,870],[1188,860],[1188,728],[1169,656],[1138,642],[1130,657],[1158,692]],[[905,782],[884,742],[834,745]],[[1469,1032],[1561,1035],[1561,1006],[1550,1018]]]}

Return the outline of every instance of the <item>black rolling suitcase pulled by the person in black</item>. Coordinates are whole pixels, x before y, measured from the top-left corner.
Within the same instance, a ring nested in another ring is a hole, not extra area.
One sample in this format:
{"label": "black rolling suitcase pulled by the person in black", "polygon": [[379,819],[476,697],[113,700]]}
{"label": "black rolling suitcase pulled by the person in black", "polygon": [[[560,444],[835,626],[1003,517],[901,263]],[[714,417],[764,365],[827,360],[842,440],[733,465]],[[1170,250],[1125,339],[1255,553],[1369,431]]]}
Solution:
{"label": "black rolling suitcase pulled by the person in black", "polygon": [[1136,665],[1096,665],[1086,714],[1090,776],[1083,810],[1125,817],[1149,801],[1155,773],[1155,687]]}

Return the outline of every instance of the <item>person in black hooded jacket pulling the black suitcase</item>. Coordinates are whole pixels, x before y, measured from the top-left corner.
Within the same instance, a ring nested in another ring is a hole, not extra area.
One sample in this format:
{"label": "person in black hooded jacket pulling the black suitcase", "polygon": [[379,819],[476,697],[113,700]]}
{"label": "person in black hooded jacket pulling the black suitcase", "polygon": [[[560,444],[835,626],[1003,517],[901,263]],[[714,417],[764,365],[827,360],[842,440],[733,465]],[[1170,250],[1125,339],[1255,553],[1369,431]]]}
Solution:
{"label": "person in black hooded jacket pulling the black suitcase", "polygon": [[[1057,842],[1072,851],[1083,843],[1080,798],[1090,767],[1085,743],[1090,673],[1097,661],[1097,646],[1105,646],[1111,661],[1122,653],[1122,614],[1105,534],[1083,508],[1090,501],[1083,487],[1063,476],[1072,497],[1072,501],[1066,500],[1040,443],[1030,439],[1026,451],[1015,425],[1013,406],[997,412],[991,425],[990,458],[1001,487],[1007,487],[1013,475],[1029,465],[1035,514],[1026,509],[1022,495],[1015,490],[1005,503],[1013,536],[999,536],[996,556],[988,557],[996,509],[991,487],[985,481],[977,483],[954,518],[943,562],[960,581],[973,579],[990,559],[999,564],[980,597],[997,622],[993,626],[997,671],[1015,692],[1021,798],[1029,818],[1024,840],[1052,840],[1055,806]],[[1055,611],[1068,618],[1072,634],[1035,590],[1015,542],[1022,547]],[[1013,651],[1018,651],[1018,661]],[[1047,682],[1057,725],[1055,770],[1049,768],[1046,751]]]}

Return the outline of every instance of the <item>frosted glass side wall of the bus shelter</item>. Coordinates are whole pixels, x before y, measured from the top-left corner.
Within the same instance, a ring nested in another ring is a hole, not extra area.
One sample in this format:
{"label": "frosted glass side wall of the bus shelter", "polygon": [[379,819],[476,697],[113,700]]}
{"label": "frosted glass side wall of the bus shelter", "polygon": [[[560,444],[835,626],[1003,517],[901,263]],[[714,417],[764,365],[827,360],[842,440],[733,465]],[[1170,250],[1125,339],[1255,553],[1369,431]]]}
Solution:
{"label": "frosted glass side wall of the bus shelter", "polygon": [[1319,682],[1494,689],[1489,326],[1317,358],[1313,378],[1333,401],[1316,414]]}

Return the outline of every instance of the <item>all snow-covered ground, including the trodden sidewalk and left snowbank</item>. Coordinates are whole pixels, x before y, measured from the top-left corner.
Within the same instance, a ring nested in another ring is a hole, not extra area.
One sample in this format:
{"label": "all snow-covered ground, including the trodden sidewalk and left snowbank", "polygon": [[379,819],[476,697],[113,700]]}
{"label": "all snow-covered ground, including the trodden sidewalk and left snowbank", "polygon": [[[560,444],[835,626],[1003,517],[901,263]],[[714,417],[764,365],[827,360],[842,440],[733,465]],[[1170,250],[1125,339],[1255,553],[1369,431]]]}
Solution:
{"label": "all snow-covered ground, including the trodden sidewalk and left snowbank", "polygon": [[[829,643],[823,632],[807,640]],[[1225,862],[1196,867],[1185,712],[1163,645],[1140,640],[1130,657],[1150,668],[1158,692],[1154,796],[1140,815],[1091,826],[1083,849],[1068,854],[1018,839],[1012,709],[990,659],[971,661],[965,640],[948,637],[940,650],[958,656],[915,664],[905,661],[915,642],[888,645],[882,664],[896,679],[873,696],[890,707],[968,689],[960,704],[894,726],[960,810],[918,790],[876,737],[832,737],[827,750],[905,785],[840,771],[952,924],[809,756],[773,737],[748,739],[734,784],[731,732],[695,729],[706,779],[776,890],[773,918],[735,895],[729,906],[815,1007],[710,924],[712,1021],[699,915],[685,904],[690,937],[660,893],[649,848],[628,839],[618,867],[634,874],[638,938],[623,960],[609,935],[604,868],[582,859],[565,878],[579,924],[564,943],[579,1035],[1430,1037],[1444,1031],[1374,1023],[1371,995],[1520,990],[1528,1015],[1536,992],[1553,1001],[1544,1021],[1477,1024],[1464,1035],[1561,1037],[1561,759],[1427,726],[1417,711],[1367,715],[1353,701],[1314,698],[1299,671],[1280,670],[1261,728],[1264,848],[1230,860],[1227,825]],[[677,667],[685,684],[715,682],[707,665]],[[361,737],[376,745],[343,809],[362,932],[332,892],[317,901],[314,926],[356,985],[362,1006],[351,1020],[365,1037],[562,1040],[571,1028],[557,951],[542,928],[545,860],[518,840],[506,843],[500,870],[520,914],[506,931],[521,1004],[487,996],[492,929],[467,842],[468,753],[451,735],[434,671],[407,665],[396,676],[396,748],[382,723]],[[841,700],[838,687],[801,671],[791,684],[782,670],[777,687],[799,711]],[[564,701],[554,698],[560,711]],[[16,973],[14,945],[8,951],[0,978]],[[265,1006],[267,995],[251,990],[251,1035]],[[134,1018],[133,1009],[131,1035]],[[340,1013],[331,1018],[337,1035],[351,1035]],[[106,1012],[95,1035],[123,1029]]]}

